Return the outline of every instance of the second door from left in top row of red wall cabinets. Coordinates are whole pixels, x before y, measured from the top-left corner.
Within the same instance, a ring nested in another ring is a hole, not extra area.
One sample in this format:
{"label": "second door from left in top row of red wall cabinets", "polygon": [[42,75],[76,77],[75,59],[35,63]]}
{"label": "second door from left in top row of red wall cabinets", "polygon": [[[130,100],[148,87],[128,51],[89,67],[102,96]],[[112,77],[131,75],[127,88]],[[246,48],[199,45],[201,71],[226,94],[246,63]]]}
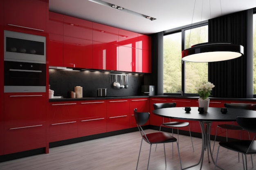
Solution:
{"label": "second door from left in top row of red wall cabinets", "polygon": [[92,40],[92,22],[65,15],[64,35]]}

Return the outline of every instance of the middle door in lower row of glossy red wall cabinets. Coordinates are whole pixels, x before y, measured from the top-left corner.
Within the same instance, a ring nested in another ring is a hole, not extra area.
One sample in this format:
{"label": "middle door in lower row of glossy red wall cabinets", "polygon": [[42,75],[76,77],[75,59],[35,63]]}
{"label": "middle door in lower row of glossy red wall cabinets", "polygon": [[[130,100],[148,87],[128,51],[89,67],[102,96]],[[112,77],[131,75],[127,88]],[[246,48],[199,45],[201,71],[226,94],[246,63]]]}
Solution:
{"label": "middle door in lower row of glossy red wall cabinets", "polygon": [[111,43],[93,42],[93,69],[118,70],[118,47]]}

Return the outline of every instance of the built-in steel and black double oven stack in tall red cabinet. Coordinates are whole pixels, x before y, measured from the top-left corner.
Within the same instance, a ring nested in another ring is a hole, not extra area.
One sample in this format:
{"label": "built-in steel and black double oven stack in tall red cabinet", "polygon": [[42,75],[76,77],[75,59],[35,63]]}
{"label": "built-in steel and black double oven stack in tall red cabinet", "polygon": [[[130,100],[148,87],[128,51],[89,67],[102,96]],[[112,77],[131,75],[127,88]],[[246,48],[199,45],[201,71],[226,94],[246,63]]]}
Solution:
{"label": "built-in steel and black double oven stack in tall red cabinet", "polygon": [[45,37],[4,30],[4,93],[46,92]]}

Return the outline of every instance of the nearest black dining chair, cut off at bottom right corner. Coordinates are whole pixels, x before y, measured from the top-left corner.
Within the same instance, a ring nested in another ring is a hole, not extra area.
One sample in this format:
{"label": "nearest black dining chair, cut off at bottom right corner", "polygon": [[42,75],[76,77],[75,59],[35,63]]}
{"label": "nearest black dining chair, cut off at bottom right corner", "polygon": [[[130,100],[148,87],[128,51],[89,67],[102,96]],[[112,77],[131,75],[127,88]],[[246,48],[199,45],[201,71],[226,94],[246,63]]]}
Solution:
{"label": "nearest black dining chair, cut off at bottom right corner", "polygon": [[[256,133],[256,117],[254,118],[249,118],[249,117],[237,117],[236,118],[237,123],[244,129],[247,130],[248,132]],[[217,160],[218,160],[218,153],[220,146],[223,148],[227,148],[229,150],[233,150],[235,152],[241,153],[242,154],[242,159],[243,159],[243,169],[247,170],[247,158],[246,155],[251,155],[256,154],[256,141],[254,141],[256,137],[256,134],[254,135],[254,138],[252,140],[238,140],[238,141],[225,141],[225,142],[220,142],[218,151],[217,151],[217,156],[216,156],[216,161],[215,161],[215,168],[217,166]],[[227,155],[225,155],[227,156]],[[245,156],[245,158],[244,158]]]}

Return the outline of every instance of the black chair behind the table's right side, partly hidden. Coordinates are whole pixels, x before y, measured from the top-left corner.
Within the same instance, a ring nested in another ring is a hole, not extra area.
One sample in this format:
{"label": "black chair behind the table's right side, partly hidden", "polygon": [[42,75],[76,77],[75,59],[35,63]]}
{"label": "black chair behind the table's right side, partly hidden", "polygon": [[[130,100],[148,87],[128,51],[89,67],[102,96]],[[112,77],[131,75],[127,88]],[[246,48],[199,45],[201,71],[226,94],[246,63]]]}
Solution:
{"label": "black chair behind the table's right side, partly hidden", "polygon": [[[226,108],[246,109],[246,110],[255,110],[256,109],[256,104],[225,103],[224,107],[226,107]],[[241,140],[241,131],[244,130],[241,126],[234,125],[234,122],[232,122],[232,124],[218,124],[217,128],[216,128],[214,143],[213,143],[213,150],[214,150],[214,146],[215,146],[215,141],[216,141],[216,137],[217,137],[218,128],[226,130],[226,141],[227,141],[227,136],[228,136],[227,135],[227,130],[240,130],[240,140]],[[249,135],[249,139],[250,139],[249,132],[248,132],[248,135]],[[213,150],[212,150],[212,152],[213,152]],[[240,158],[239,158],[239,153],[238,153],[238,162],[239,162],[239,160],[240,160]],[[253,162],[252,162],[252,167],[253,167]]]}

